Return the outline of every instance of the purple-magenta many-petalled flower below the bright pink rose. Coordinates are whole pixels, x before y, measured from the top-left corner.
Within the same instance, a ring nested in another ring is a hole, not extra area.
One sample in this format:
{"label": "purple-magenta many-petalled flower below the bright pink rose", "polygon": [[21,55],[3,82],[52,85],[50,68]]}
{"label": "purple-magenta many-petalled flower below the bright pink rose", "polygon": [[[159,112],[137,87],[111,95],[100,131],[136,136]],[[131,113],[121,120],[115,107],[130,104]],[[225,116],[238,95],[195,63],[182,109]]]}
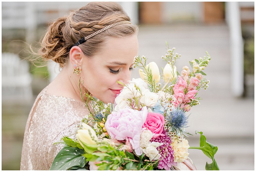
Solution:
{"label": "purple-magenta many-petalled flower below the bright pink rose", "polygon": [[[164,133],[164,132],[163,132]],[[174,161],[174,151],[172,149],[172,140],[170,137],[167,137],[167,133],[164,133],[165,136],[159,136],[157,138],[152,138],[151,142],[159,142],[163,143],[163,145],[159,146],[157,148],[158,151],[160,151],[161,157],[159,158],[159,163],[157,168],[159,169],[165,169],[170,170],[170,168],[177,165],[177,162]]]}

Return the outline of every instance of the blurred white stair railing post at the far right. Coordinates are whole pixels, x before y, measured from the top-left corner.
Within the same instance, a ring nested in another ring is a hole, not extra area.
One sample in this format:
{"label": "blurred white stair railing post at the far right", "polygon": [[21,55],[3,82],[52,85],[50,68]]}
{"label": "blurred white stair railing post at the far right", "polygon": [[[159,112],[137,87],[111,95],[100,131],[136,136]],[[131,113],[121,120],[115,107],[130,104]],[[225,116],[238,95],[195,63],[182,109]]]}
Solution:
{"label": "blurred white stair railing post at the far right", "polygon": [[231,89],[236,97],[244,93],[244,43],[238,2],[226,2],[226,17],[230,30]]}

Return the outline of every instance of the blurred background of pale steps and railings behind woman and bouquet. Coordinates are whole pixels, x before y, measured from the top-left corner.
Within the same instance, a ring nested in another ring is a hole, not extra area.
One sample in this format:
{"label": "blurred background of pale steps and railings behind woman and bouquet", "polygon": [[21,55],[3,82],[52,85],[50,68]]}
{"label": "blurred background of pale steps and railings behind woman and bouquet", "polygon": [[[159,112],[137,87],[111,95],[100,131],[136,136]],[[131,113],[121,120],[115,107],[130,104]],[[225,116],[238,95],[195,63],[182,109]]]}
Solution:
{"label": "blurred background of pale steps and railings behind woman and bouquet", "polygon": [[[2,2],[2,170],[19,170],[23,135],[37,94],[58,74],[54,63],[35,67],[23,60],[38,48],[49,22],[88,2]],[[199,146],[195,130],[218,146],[221,170],[254,170],[254,2],[118,2],[139,25],[139,55],[165,62],[167,47],[188,61],[212,57],[204,72],[209,89],[189,111],[190,146]],[[138,69],[132,73],[138,78]],[[198,170],[206,161],[189,150]]]}

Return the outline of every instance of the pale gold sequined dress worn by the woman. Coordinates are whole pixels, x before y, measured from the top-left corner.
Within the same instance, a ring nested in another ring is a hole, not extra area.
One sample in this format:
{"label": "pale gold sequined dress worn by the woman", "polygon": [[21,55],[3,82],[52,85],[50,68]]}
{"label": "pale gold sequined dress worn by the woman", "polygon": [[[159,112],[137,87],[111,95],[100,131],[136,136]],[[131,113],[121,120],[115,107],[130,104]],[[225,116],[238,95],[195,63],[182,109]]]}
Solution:
{"label": "pale gold sequined dress worn by the woman", "polygon": [[76,130],[89,111],[82,102],[54,96],[42,90],[29,113],[20,170],[49,170],[62,149],[61,138],[75,138]]}

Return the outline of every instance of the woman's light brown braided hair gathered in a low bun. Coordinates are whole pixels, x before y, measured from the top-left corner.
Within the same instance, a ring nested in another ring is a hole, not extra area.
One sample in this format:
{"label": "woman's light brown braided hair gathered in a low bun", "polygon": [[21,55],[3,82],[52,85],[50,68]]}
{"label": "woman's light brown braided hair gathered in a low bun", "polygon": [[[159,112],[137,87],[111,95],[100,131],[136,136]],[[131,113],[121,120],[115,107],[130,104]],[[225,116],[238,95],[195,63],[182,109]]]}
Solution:
{"label": "woman's light brown braided hair gathered in a low bun", "polygon": [[[69,59],[68,48],[79,39],[92,34],[110,24],[131,21],[121,5],[114,2],[92,2],[69,16],[52,22],[41,41],[39,55],[43,60],[53,60],[64,67]],[[128,37],[138,33],[138,27],[125,23],[111,27],[78,45],[87,57],[92,57],[107,37]]]}

